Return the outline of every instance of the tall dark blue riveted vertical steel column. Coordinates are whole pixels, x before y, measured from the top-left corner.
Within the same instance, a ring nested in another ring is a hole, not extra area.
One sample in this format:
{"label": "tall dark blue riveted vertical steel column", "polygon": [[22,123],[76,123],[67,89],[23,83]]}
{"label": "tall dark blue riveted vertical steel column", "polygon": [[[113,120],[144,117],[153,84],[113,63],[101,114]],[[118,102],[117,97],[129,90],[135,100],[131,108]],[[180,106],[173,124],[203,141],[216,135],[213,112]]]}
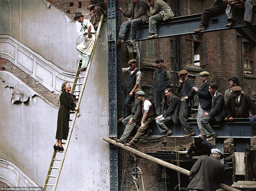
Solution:
{"label": "tall dark blue riveted vertical steel column", "polygon": [[[108,81],[109,81],[109,136],[117,137],[117,119],[121,116],[121,49],[117,48],[116,38],[119,31],[120,19],[117,0],[108,0],[107,28],[108,28]],[[122,180],[122,151],[110,144],[110,191],[121,190]]]}

